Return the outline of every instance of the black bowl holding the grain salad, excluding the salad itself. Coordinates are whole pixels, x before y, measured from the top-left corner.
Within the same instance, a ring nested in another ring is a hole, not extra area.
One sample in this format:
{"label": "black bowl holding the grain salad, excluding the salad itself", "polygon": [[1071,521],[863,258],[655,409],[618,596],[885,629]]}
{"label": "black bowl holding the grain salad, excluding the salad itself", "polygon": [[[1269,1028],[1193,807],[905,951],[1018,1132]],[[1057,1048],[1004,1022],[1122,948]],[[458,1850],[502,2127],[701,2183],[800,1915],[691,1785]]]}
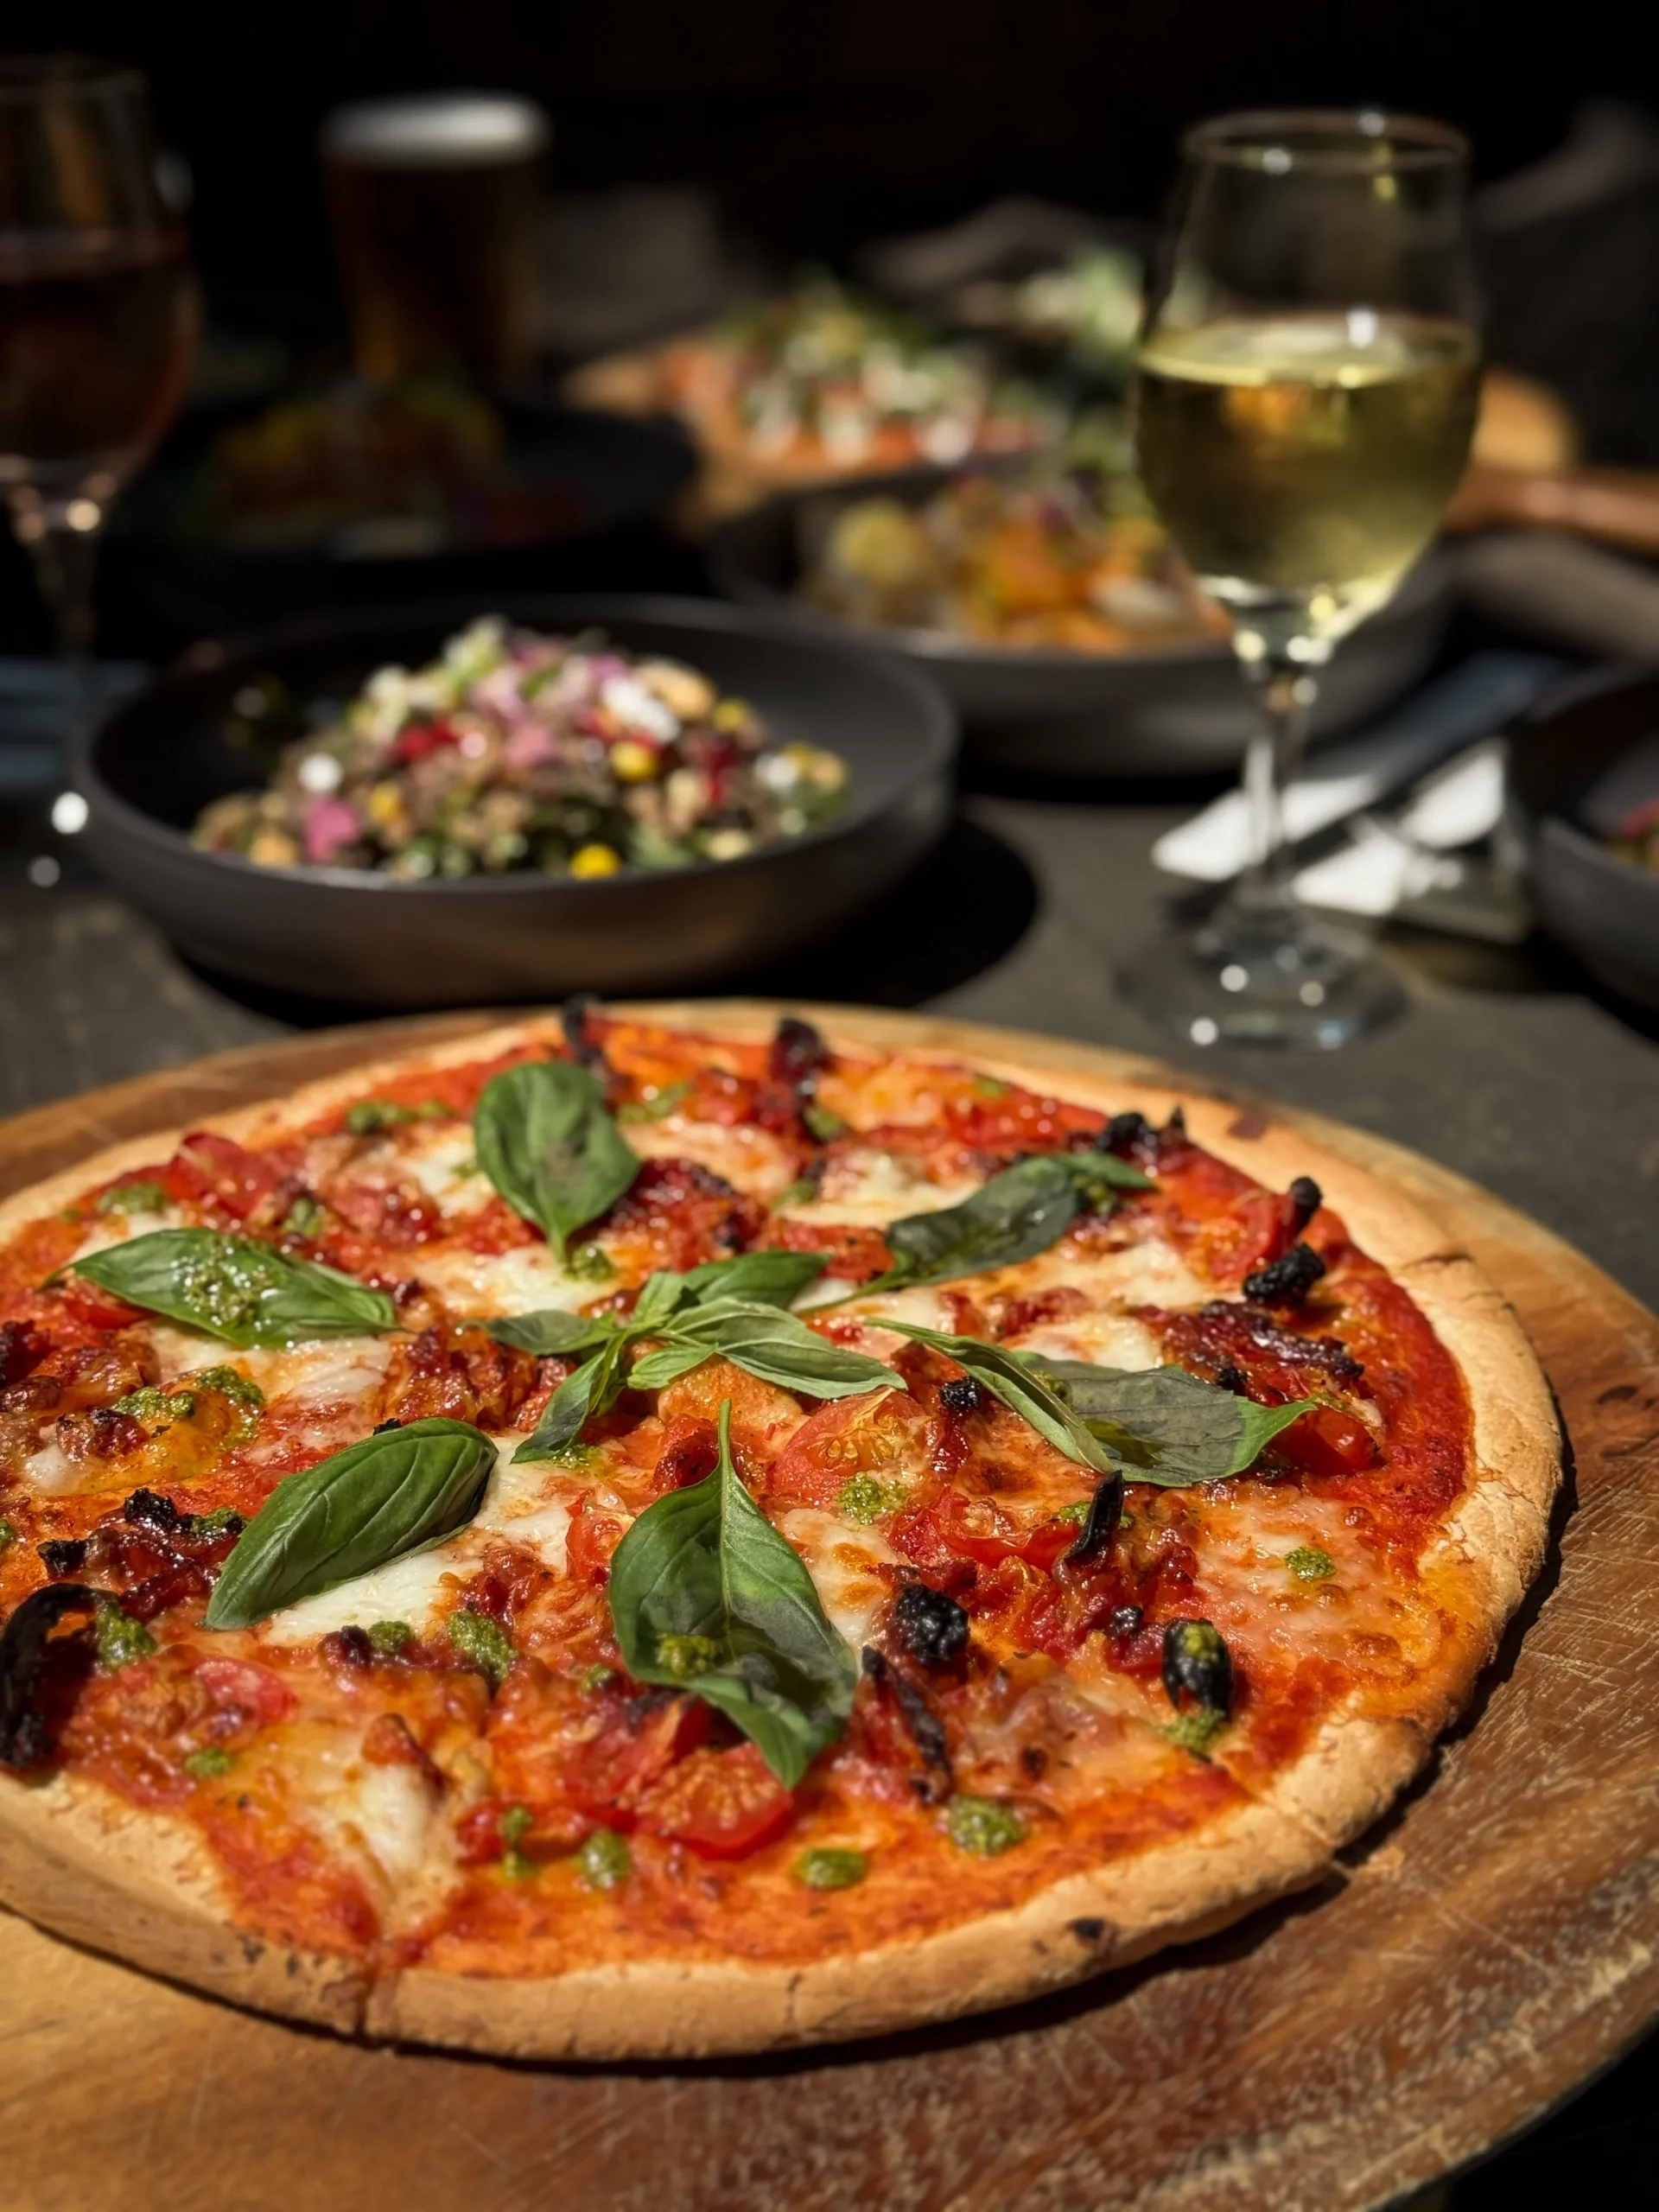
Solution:
{"label": "black bowl holding the grain salad, excluding the salad itself", "polygon": [[[246,787],[226,708],[270,670],[296,699],[349,697],[385,661],[429,659],[478,613],[535,628],[602,624],[622,646],[703,668],[779,741],[852,770],[845,812],[739,860],[599,880],[511,874],[396,883],[358,869],[265,869],[188,841],[197,812]],[[312,998],[489,1004],[575,989],[703,982],[823,938],[887,891],[945,827],[956,723],[914,672],[695,599],[555,597],[407,608],[199,646],[73,748],[93,856],[192,960]]]}

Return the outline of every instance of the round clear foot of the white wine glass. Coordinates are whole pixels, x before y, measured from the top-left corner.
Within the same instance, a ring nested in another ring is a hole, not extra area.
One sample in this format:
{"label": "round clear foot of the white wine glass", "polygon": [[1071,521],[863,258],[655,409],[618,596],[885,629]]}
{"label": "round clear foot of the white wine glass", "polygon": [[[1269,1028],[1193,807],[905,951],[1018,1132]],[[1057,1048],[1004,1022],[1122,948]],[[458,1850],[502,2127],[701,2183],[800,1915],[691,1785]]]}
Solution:
{"label": "round clear foot of the white wine glass", "polygon": [[1336,1051],[1405,1006],[1369,942],[1298,916],[1290,933],[1212,922],[1155,938],[1119,975],[1124,998],[1188,1044],[1283,1044]]}

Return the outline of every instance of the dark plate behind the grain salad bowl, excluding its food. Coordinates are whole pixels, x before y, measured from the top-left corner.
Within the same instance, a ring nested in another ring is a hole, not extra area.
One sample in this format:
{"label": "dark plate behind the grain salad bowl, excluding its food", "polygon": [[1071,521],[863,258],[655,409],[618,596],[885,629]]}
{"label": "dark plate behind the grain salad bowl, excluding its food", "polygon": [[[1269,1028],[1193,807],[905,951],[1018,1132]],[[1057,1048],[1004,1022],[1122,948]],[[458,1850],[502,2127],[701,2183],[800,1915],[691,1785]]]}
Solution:
{"label": "dark plate behind the grain salad bowl, excluding its food", "polygon": [[212,440],[257,409],[192,409],[115,511],[106,588],[181,639],[341,608],[465,593],[564,591],[624,582],[637,542],[697,473],[697,449],[668,418],[626,420],[526,396],[498,398],[513,467],[553,513],[533,540],[458,544],[403,557],[352,557],[327,544],[248,551],[192,535],[188,507]]}

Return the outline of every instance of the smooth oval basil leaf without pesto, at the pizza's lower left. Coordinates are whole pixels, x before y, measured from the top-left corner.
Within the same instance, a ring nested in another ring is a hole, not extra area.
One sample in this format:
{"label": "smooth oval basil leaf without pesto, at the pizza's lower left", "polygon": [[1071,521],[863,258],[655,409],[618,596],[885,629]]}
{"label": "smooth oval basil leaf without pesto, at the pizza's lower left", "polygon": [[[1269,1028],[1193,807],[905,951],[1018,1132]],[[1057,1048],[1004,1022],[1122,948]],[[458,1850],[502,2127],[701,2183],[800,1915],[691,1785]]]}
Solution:
{"label": "smooth oval basil leaf without pesto, at the pizza's lower left", "polygon": [[465,1420],[411,1420],[285,1475],[237,1537],[208,1628],[250,1628],[299,1597],[354,1582],[462,1528],[495,1447]]}

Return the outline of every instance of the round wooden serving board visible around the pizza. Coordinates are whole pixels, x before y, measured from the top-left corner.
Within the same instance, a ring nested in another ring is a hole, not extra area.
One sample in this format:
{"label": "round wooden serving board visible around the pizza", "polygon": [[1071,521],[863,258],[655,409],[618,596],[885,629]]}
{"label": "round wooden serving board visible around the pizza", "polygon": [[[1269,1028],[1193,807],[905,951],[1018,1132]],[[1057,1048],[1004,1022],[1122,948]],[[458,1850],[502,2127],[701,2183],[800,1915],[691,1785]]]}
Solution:
{"label": "round wooden serving board visible around the pizza", "polygon": [[[967,1055],[1029,1042],[887,1020]],[[0,1194],[478,1022],[292,1037],[40,1108],[0,1124]],[[135,2188],[170,2212],[1338,2212],[1475,2157],[1615,2057],[1659,2011],[1659,1321],[1473,1183],[1276,1115],[1458,1237],[1513,1301],[1571,1438],[1544,1575],[1473,1712],[1340,1874],[945,2031],[606,2070],[341,2044],[0,1913],[9,2212],[126,2212]]]}

